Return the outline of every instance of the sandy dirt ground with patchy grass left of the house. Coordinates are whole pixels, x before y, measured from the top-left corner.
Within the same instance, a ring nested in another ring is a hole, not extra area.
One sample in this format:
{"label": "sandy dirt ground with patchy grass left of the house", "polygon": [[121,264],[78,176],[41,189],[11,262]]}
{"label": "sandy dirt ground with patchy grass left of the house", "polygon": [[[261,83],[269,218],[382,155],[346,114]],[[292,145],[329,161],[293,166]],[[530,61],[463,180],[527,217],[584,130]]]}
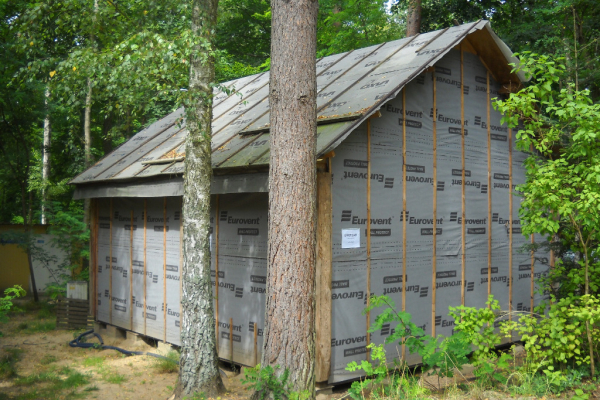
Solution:
{"label": "sandy dirt ground with patchy grass left of the house", "polygon": [[[23,305],[24,303],[19,302]],[[177,370],[164,371],[160,361],[151,356],[125,357],[116,350],[69,347],[80,331],[56,330],[51,311],[25,310],[12,314],[8,323],[0,324],[0,357],[18,353],[13,376],[0,373],[0,400],[4,399],[168,399],[173,393]],[[143,341],[103,337],[106,345],[126,350],[160,353]],[[90,337],[90,342],[97,340]],[[162,349],[161,349],[162,350]],[[65,369],[65,367],[67,367]],[[172,366],[171,366],[172,367]],[[168,369],[168,368],[167,368]],[[221,399],[248,398],[249,391],[241,383],[243,373],[222,365],[222,377],[227,393]],[[1,370],[0,370],[1,372]],[[77,383],[77,377],[83,375]],[[48,377],[54,377],[49,382]],[[71,377],[71,378],[70,378]],[[62,380],[61,382],[56,382]],[[69,385],[68,382],[75,382]],[[85,382],[85,383],[84,383]],[[344,397],[343,389],[319,400]]]}

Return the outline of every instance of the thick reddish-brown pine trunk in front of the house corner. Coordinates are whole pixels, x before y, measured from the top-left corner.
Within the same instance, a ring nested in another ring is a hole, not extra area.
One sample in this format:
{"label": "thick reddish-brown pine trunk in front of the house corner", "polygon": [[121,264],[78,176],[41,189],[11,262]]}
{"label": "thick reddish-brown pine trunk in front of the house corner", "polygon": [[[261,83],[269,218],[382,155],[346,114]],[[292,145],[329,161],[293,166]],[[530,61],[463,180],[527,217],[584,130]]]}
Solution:
{"label": "thick reddish-brown pine trunk in front of the house corner", "polygon": [[[273,0],[267,302],[262,365],[315,385],[316,0]],[[255,393],[254,397],[257,397]]]}

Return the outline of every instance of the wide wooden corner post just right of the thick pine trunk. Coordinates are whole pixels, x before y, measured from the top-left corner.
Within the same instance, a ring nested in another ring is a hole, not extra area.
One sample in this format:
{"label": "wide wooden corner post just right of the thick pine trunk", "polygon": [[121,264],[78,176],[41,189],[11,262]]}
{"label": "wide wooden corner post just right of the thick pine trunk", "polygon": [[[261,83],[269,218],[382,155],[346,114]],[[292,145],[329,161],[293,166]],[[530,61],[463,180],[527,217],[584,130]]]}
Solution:
{"label": "wide wooden corner post just right of the thick pine trunk", "polygon": [[[327,159],[329,160],[329,159]],[[316,262],[316,381],[329,379],[331,370],[331,170],[317,164]],[[256,324],[254,325],[256,327]]]}

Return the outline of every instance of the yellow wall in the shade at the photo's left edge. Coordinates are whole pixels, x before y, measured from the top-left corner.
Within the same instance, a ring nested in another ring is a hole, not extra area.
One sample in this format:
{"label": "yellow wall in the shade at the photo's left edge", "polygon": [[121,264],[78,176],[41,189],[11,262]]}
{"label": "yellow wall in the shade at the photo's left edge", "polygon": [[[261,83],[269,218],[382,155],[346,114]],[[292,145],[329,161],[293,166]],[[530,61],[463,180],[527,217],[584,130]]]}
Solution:
{"label": "yellow wall in the shade at the photo's left edge", "polygon": [[[21,225],[0,225],[0,233],[23,231]],[[46,226],[35,225],[35,233],[46,233]],[[0,244],[0,295],[4,289],[21,285],[29,293],[29,264],[27,254],[17,244]]]}

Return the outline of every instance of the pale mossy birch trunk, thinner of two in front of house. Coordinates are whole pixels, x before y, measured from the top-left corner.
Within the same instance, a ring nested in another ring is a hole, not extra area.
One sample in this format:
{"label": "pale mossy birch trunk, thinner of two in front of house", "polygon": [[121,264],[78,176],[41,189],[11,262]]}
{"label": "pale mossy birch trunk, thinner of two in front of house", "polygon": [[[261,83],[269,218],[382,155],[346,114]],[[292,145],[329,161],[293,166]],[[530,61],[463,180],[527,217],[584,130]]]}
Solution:
{"label": "pale mossy birch trunk, thinner of two in front of house", "polygon": [[190,66],[183,193],[183,271],[181,285],[181,358],[175,397],[224,392],[218,368],[210,277],[210,182],[212,88],[218,0],[192,1],[192,31],[207,47],[197,46]]}

